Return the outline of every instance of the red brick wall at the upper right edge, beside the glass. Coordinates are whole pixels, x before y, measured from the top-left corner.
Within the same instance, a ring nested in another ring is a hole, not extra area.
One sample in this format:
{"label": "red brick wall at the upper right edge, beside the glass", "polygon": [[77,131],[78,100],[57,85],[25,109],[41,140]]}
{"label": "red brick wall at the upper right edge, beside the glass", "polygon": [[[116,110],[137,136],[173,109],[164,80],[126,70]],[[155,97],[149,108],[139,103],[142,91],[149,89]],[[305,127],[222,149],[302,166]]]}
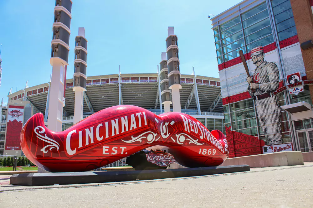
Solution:
{"label": "red brick wall at the upper right edge, beside the glass", "polygon": [[[313,41],[313,15],[310,1],[311,0],[290,0],[300,44],[309,40]],[[307,79],[313,80],[313,47],[306,50],[301,49],[301,52]],[[309,85],[309,88],[312,99],[313,85]]]}

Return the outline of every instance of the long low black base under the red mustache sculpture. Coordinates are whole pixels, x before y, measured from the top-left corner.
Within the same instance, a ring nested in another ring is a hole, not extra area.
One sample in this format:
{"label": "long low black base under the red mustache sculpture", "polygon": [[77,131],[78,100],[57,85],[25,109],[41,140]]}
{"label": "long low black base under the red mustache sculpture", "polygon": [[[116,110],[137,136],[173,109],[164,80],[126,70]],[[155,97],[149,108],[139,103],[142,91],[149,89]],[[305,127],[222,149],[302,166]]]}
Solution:
{"label": "long low black base under the red mustache sculpture", "polygon": [[248,165],[197,167],[142,171],[97,171],[69,173],[22,173],[11,176],[10,184],[23,186],[48,186],[118,181],[152,180],[162,178],[205,176],[249,171]]}

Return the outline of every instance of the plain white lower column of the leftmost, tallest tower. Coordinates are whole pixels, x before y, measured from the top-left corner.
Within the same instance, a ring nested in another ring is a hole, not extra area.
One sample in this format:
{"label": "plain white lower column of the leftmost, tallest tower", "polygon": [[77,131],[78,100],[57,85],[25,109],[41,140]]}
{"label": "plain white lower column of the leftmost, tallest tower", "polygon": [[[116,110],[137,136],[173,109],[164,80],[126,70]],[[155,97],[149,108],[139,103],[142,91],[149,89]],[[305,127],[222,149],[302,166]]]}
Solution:
{"label": "plain white lower column of the leftmost, tallest tower", "polygon": [[[51,58],[52,62],[52,76],[51,88],[49,99],[49,120],[48,128],[51,131],[62,131],[63,107],[64,103],[64,64],[59,58]],[[66,62],[64,62],[68,65]]]}

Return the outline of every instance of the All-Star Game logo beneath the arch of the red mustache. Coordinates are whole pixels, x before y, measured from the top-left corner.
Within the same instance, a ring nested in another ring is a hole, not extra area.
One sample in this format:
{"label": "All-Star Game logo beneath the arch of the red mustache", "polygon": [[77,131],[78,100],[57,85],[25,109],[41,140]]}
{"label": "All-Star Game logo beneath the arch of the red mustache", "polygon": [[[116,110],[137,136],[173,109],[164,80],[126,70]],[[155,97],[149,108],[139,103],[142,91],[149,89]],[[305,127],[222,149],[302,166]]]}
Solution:
{"label": "All-Star Game logo beneath the arch of the red mustache", "polygon": [[167,167],[175,162],[174,155],[167,153],[166,150],[154,150],[153,152],[146,154],[146,157],[148,162],[160,167]]}

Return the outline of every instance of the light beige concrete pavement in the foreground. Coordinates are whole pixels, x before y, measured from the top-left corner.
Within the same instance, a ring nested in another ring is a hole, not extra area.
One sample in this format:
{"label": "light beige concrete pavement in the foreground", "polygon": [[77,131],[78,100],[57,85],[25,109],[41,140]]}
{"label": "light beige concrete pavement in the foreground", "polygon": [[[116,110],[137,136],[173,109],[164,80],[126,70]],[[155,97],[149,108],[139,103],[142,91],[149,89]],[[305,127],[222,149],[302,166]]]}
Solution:
{"label": "light beige concrete pavement in the foreground", "polygon": [[313,162],[101,184],[0,187],[0,207],[313,207]]}

